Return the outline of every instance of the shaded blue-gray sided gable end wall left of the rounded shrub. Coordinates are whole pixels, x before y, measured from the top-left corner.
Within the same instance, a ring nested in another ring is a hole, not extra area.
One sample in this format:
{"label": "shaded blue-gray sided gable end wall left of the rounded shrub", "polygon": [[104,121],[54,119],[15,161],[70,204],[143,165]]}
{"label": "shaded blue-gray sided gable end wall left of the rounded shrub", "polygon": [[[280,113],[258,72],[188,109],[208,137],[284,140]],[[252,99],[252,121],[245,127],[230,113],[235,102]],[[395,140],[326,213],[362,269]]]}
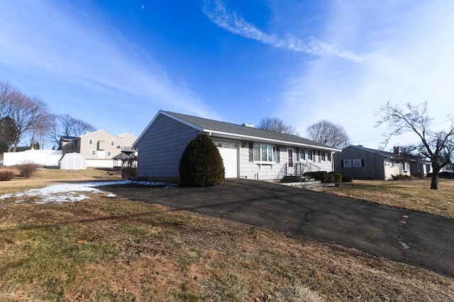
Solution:
{"label": "shaded blue-gray sided gable end wall left of the rounded shrub", "polygon": [[179,160],[187,144],[200,132],[166,116],[157,116],[138,148],[138,177],[179,179]]}

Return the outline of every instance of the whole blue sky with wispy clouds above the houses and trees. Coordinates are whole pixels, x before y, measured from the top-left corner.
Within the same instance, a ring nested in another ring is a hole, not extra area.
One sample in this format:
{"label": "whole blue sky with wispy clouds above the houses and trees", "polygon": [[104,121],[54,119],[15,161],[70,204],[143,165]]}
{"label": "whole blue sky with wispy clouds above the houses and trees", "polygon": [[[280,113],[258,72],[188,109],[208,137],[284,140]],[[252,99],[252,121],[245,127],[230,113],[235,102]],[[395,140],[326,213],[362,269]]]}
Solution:
{"label": "whole blue sky with wispy clouds above the houses and trees", "polygon": [[277,117],[301,136],[327,119],[379,147],[387,101],[427,101],[434,128],[448,126],[453,12],[449,0],[0,1],[0,81],[117,135],[162,109]]}

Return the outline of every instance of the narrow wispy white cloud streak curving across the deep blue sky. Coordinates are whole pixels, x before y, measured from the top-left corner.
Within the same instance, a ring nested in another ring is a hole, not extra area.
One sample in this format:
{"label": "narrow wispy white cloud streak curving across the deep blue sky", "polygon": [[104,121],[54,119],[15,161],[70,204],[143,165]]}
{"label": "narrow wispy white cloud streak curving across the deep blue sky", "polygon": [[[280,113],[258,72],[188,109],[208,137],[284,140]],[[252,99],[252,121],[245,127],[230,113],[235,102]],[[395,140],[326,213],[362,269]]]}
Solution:
{"label": "narrow wispy white cloud streak curving across the deep blue sky", "polygon": [[362,54],[353,50],[343,50],[336,45],[323,42],[317,38],[310,38],[308,41],[295,37],[288,33],[284,37],[277,34],[269,34],[248,23],[236,11],[228,11],[224,1],[207,0],[203,10],[205,15],[220,28],[230,33],[241,35],[245,38],[256,40],[260,43],[273,47],[284,48],[294,52],[302,52],[310,55],[333,55],[352,62],[363,62],[372,57],[372,54]]}

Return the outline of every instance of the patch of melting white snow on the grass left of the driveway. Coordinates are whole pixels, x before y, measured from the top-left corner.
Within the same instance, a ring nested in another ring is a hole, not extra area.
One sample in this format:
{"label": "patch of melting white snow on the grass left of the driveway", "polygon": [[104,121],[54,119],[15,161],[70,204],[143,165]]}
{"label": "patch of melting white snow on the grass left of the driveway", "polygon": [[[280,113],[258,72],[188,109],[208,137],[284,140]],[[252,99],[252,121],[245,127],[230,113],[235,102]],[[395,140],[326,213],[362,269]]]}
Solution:
{"label": "patch of melting white snow on the grass left of the driveway", "polygon": [[[81,193],[88,192],[91,194],[103,193],[103,191],[95,188],[95,186],[111,186],[120,184],[139,184],[148,186],[165,186],[162,182],[150,181],[131,181],[131,180],[117,180],[117,181],[94,181],[84,183],[72,184],[52,184],[45,186],[41,189],[29,189],[23,192],[16,192],[13,194],[4,194],[0,196],[0,200],[6,198],[18,198],[16,203],[25,202],[23,198],[32,197],[34,203],[62,203],[62,202],[76,202],[83,201],[89,196]],[[108,194],[107,197],[115,197],[115,194]]]}

